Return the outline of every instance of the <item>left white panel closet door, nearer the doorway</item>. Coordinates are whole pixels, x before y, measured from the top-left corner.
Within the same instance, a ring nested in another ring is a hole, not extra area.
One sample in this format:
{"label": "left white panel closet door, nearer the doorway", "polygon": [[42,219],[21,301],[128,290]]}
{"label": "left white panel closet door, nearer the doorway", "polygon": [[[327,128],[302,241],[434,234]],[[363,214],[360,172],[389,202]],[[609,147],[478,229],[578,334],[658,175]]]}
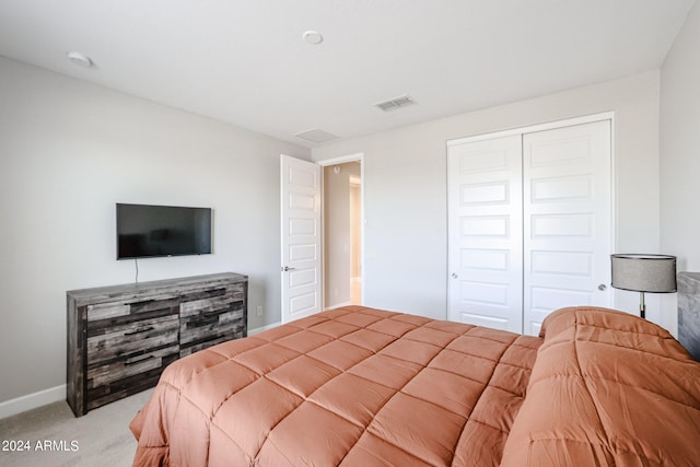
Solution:
{"label": "left white panel closet door, nearer the doorway", "polygon": [[448,318],[522,332],[521,136],[452,145]]}

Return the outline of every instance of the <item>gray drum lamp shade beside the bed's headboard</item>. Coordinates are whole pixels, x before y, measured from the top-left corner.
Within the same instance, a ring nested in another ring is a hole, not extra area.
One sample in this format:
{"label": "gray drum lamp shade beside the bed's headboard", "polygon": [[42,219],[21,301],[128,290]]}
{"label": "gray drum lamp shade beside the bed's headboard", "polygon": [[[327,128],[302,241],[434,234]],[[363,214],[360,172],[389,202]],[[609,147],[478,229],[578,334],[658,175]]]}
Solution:
{"label": "gray drum lamp shade beside the bed's headboard", "polygon": [[668,255],[610,255],[612,287],[637,292],[675,292],[676,257]]}

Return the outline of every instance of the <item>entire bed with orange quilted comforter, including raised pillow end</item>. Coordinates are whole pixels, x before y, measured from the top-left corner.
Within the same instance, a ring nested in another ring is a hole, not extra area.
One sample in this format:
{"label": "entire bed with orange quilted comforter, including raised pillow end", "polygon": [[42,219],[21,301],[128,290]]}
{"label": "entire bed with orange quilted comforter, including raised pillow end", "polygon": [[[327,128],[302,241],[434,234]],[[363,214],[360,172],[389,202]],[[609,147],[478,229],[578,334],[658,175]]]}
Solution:
{"label": "entire bed with orange quilted comforter, including raised pillow end", "polygon": [[691,466],[700,363],[626,313],[540,337],[361,306],[172,363],[135,466]]}

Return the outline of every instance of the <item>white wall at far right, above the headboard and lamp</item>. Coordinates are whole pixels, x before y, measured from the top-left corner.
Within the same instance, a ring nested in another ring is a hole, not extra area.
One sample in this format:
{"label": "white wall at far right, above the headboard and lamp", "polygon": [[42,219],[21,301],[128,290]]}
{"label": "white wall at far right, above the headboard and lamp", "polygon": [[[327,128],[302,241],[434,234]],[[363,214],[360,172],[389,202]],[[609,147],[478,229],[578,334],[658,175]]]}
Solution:
{"label": "white wall at far right, above the headboard and lamp", "polygon": [[661,243],[679,271],[700,271],[700,3],[661,71]]}

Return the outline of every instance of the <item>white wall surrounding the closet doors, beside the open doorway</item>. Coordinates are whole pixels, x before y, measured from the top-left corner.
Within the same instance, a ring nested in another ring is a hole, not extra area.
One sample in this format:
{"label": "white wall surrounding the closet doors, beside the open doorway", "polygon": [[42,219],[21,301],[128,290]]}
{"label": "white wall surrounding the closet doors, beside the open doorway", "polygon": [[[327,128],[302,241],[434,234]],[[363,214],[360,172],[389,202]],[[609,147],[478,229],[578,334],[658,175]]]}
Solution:
{"label": "white wall surrounding the closet doors, beside the open doorway", "polygon": [[[314,161],[365,154],[365,304],[445,318],[447,140],[610,110],[616,250],[654,253],[660,244],[657,71],[314,149]],[[616,306],[638,310],[635,294],[615,296]],[[648,316],[668,325],[656,303],[650,297]]]}

